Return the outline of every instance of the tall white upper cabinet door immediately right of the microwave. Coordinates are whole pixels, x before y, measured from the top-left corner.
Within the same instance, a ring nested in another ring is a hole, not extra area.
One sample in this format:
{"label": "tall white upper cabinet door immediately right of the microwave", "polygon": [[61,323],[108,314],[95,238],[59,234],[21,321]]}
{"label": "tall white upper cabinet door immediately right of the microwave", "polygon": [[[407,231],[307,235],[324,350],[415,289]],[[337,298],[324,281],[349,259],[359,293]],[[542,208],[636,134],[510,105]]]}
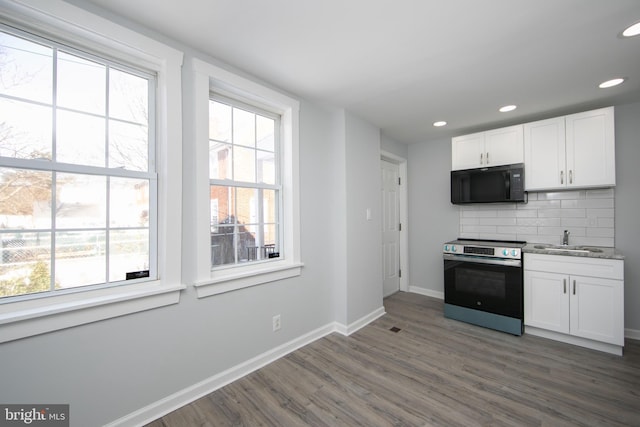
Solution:
{"label": "tall white upper cabinet door immediately right of the microwave", "polygon": [[565,188],[564,117],[524,125],[525,190]]}

